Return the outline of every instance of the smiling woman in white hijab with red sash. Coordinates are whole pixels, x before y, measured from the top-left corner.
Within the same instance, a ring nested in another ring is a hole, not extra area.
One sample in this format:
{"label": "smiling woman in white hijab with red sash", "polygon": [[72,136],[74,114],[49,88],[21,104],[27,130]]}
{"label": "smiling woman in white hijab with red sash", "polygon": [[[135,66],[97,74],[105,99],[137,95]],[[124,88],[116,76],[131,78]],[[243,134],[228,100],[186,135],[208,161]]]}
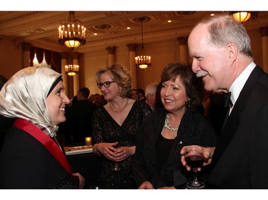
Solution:
{"label": "smiling woman in white hijab with red sash", "polygon": [[24,68],[6,82],[0,92],[0,115],[16,120],[6,132],[0,152],[0,188],[84,186],[84,178],[71,172],[56,141],[56,131],[59,123],[66,120],[64,108],[69,102],[61,74],[50,68]]}

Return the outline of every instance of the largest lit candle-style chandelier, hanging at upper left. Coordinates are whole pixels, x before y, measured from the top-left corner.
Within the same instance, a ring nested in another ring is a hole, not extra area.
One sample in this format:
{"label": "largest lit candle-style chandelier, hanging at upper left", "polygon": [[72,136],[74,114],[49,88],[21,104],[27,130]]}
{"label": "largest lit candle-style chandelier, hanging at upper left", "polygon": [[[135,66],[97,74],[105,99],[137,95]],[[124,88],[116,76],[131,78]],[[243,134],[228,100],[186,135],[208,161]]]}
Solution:
{"label": "largest lit candle-style chandelier, hanging at upper left", "polygon": [[59,26],[59,43],[68,48],[77,48],[86,43],[86,28],[75,19],[74,11],[69,11],[68,23]]}

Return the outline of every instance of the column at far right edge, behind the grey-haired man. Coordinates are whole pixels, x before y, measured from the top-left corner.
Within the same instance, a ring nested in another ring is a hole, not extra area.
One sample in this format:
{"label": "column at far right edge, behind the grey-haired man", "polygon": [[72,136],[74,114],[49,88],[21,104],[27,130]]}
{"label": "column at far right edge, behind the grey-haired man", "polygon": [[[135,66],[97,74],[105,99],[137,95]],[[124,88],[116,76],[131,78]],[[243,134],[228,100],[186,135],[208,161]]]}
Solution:
{"label": "column at far right edge, behind the grey-haired man", "polygon": [[262,68],[268,73],[268,26],[259,28],[262,35]]}

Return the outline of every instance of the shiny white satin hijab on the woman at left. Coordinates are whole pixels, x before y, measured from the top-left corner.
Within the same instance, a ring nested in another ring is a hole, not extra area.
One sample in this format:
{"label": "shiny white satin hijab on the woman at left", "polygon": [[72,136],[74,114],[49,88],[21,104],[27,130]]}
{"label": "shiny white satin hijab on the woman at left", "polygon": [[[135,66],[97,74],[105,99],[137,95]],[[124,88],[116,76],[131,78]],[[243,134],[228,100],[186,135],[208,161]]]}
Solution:
{"label": "shiny white satin hijab on the woman at left", "polygon": [[49,137],[55,137],[58,126],[51,124],[46,97],[59,77],[62,75],[51,68],[19,70],[1,89],[0,114],[29,120]]}

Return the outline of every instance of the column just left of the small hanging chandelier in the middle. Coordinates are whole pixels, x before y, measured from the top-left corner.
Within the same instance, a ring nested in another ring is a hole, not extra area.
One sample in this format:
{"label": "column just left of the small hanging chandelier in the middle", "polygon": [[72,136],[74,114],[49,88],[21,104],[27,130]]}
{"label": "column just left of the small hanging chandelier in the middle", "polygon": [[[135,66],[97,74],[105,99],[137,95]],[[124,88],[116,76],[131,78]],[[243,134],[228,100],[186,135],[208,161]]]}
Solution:
{"label": "column just left of the small hanging chandelier in the middle", "polygon": [[129,72],[132,78],[132,88],[137,88],[137,69],[135,63],[137,44],[128,43],[126,46],[129,48]]}

